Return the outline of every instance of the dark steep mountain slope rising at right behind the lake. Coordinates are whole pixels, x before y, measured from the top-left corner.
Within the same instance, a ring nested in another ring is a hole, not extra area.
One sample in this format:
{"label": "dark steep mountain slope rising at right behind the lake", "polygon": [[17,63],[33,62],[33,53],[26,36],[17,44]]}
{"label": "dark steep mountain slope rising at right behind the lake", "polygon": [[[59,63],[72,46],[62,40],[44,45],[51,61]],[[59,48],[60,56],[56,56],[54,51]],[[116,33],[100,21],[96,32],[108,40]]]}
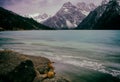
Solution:
{"label": "dark steep mountain slope rising at right behind the lake", "polygon": [[110,0],[92,11],[77,29],[120,29],[120,5]]}

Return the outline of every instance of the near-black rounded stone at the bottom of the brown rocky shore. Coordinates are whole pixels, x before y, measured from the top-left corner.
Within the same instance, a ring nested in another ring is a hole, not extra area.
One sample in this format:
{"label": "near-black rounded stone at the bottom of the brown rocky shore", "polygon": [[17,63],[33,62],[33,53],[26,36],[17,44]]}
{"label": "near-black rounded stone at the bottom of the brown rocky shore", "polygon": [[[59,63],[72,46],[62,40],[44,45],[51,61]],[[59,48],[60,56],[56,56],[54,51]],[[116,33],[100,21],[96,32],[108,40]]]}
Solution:
{"label": "near-black rounded stone at the bottom of the brown rocky shore", "polygon": [[34,65],[31,60],[21,62],[8,77],[11,82],[32,82],[36,76]]}

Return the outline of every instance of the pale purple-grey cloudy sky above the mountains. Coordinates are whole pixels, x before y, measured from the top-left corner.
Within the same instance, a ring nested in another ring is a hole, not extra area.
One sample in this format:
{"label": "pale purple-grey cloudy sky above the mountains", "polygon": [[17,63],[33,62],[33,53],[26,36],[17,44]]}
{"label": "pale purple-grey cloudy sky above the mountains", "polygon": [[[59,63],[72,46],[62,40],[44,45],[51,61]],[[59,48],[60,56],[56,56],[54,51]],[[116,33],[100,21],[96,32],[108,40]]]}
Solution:
{"label": "pale purple-grey cloudy sky above the mountains", "polygon": [[102,0],[0,0],[0,6],[20,15],[47,13],[54,15],[65,2],[77,4],[78,2],[94,3],[99,5]]}

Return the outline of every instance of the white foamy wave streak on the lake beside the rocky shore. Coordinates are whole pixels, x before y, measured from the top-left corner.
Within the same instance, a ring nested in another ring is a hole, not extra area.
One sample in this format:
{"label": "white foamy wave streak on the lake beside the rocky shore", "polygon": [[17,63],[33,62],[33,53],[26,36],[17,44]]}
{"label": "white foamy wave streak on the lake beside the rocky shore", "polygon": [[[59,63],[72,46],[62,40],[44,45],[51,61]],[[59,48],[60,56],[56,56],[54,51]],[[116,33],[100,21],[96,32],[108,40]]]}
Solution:
{"label": "white foamy wave streak on the lake beside the rocky shore", "polygon": [[[61,61],[64,64],[71,64],[76,67],[91,69],[94,71],[107,73],[114,77],[120,78],[120,70],[107,68],[103,63],[98,63],[98,62],[92,61],[90,59],[84,60],[84,59],[87,59],[84,57],[64,56],[64,55],[59,56],[59,55],[55,55],[54,53],[51,53],[51,52],[41,52],[41,54],[43,54],[43,53],[44,53],[44,56],[50,58],[51,60]],[[78,59],[83,58],[83,60],[76,60],[75,58],[78,58]]]}

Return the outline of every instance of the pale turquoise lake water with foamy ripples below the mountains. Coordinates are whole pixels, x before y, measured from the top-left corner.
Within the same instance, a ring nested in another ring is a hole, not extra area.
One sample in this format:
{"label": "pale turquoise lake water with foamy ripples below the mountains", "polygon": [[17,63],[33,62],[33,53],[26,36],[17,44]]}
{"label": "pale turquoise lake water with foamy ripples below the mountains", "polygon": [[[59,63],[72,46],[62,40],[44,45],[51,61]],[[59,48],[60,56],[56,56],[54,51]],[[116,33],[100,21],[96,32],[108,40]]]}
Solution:
{"label": "pale turquoise lake water with foamy ripples below the mountains", "polygon": [[55,61],[72,82],[120,82],[120,31],[3,31],[0,49]]}

